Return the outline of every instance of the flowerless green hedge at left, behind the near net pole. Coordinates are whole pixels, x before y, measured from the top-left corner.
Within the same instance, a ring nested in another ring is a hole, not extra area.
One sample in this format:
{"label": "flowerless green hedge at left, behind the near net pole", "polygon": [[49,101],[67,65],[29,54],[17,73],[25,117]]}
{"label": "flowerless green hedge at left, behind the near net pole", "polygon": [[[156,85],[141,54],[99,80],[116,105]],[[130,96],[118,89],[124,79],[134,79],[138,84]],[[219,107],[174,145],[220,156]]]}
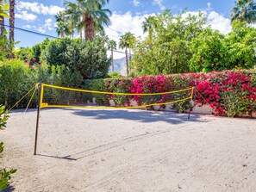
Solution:
{"label": "flowerless green hedge at left, behind the near net pole", "polygon": [[[73,72],[64,65],[56,67],[39,65],[32,68],[18,59],[4,60],[0,62],[0,104],[11,108],[40,81],[45,84],[77,87],[82,84],[82,77],[78,72]],[[26,108],[31,96],[32,92],[18,104],[17,108]],[[35,107],[36,101],[34,96],[30,107]]]}

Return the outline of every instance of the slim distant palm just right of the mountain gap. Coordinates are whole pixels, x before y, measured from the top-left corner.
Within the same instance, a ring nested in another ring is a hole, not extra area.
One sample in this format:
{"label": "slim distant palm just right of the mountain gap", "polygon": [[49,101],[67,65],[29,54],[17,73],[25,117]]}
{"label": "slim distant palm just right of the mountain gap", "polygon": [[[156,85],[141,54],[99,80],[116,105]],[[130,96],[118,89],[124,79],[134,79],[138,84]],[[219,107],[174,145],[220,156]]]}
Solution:
{"label": "slim distant palm just right of the mountain gap", "polygon": [[[125,49],[127,75],[129,74],[129,70],[128,70],[128,48],[129,49],[131,48],[133,39],[134,39],[134,34],[128,32],[126,34],[123,34],[121,36],[120,40],[119,40],[119,47],[122,48],[122,49]],[[130,53],[130,59],[131,59],[131,53]]]}

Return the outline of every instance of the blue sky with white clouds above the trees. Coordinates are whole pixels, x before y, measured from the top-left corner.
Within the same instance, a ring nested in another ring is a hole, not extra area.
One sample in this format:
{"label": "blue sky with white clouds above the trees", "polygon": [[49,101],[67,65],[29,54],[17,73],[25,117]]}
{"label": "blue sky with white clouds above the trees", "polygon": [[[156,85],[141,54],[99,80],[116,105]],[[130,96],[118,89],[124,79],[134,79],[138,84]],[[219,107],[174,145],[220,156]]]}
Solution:
{"label": "blue sky with white clouds above the trees", "polygon": [[[16,1],[16,27],[57,36],[54,15],[63,9],[63,2],[63,0]],[[227,34],[230,31],[228,17],[233,7],[234,0],[109,0],[107,8],[113,12],[113,15],[106,33],[110,39],[114,40],[118,40],[121,34],[128,31],[136,36],[143,35],[140,26],[146,16],[160,13],[164,9],[172,9],[172,13],[176,14],[188,8],[192,13],[199,10],[205,11],[212,28]],[[45,37],[18,30],[15,37],[16,40],[21,41],[18,46],[33,46],[45,39]]]}

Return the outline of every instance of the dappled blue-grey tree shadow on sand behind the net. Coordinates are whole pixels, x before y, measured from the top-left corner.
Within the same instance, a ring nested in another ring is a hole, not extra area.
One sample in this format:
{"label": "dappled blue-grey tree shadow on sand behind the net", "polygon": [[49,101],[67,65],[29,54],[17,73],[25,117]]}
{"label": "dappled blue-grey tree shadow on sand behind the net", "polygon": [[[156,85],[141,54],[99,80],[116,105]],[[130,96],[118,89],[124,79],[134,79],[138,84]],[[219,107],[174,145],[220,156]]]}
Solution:
{"label": "dappled blue-grey tree shadow on sand behind the net", "polygon": [[198,115],[190,115],[190,119],[188,119],[188,114],[178,114],[169,111],[145,111],[145,110],[74,110],[72,109],[73,115],[79,116],[87,116],[97,120],[111,120],[111,119],[122,119],[122,120],[131,120],[131,121],[139,121],[143,123],[151,123],[158,121],[165,121],[170,124],[181,124],[189,121],[201,121]]}

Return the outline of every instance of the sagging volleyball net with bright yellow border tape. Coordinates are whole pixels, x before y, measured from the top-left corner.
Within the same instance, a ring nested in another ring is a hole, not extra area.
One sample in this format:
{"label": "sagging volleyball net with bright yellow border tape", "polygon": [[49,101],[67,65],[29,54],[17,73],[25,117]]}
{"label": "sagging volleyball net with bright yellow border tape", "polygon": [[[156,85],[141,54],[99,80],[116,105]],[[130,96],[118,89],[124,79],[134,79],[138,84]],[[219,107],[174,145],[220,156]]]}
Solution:
{"label": "sagging volleyball net with bright yellow border tape", "polygon": [[188,102],[194,88],[160,93],[114,93],[81,90],[51,84],[40,86],[40,108],[149,108]]}

